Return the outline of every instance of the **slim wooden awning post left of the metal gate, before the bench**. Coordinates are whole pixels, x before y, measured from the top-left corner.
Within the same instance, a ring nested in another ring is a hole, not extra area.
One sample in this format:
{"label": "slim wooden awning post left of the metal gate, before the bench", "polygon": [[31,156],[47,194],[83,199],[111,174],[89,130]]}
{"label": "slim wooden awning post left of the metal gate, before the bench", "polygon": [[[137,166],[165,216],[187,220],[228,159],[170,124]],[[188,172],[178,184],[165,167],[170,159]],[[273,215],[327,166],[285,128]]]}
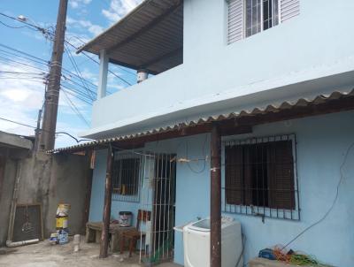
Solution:
{"label": "slim wooden awning post left of the metal gate, before the bench", "polygon": [[105,174],[105,191],[104,191],[104,218],[101,234],[100,258],[108,256],[108,235],[111,220],[111,204],[112,204],[112,145],[109,144],[107,153],[107,170]]}

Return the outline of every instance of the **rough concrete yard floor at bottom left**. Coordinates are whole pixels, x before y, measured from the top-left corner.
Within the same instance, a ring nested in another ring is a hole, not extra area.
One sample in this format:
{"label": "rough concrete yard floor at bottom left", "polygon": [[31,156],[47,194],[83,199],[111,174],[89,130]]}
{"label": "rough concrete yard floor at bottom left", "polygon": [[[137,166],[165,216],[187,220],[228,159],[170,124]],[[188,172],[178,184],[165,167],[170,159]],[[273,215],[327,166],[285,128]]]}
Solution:
{"label": "rough concrete yard floor at bottom left", "polygon": [[[81,250],[73,253],[73,241],[65,245],[51,245],[48,240],[18,248],[0,248],[0,266],[6,267],[141,267],[139,256],[110,254],[99,259],[99,245],[81,241]],[[162,263],[158,267],[181,267]]]}

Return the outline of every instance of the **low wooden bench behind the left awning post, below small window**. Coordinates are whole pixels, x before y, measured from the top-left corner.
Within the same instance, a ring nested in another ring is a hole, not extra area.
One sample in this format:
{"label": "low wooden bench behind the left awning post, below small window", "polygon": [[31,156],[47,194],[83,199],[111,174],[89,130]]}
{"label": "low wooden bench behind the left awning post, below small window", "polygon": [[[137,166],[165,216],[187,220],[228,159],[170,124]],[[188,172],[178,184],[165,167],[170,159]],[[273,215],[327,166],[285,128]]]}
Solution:
{"label": "low wooden bench behind the left awning post, below small window", "polygon": [[[86,224],[86,242],[101,242],[102,222],[89,222]],[[110,225],[110,241],[112,252],[119,251],[120,233],[135,229],[135,227],[120,227],[119,224]]]}

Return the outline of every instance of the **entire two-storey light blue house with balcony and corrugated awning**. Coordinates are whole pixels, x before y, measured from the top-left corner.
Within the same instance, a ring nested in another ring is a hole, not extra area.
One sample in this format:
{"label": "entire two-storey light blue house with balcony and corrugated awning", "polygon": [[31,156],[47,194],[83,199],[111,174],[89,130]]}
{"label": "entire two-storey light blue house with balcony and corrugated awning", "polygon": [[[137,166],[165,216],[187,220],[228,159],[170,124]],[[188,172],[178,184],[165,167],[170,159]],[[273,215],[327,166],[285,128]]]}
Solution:
{"label": "entire two-storey light blue house with balcony and corrugated awning", "polygon": [[[244,263],[281,244],[352,266],[353,10],[350,0],[146,0],[81,47],[100,58],[82,134],[96,141],[55,152],[95,151],[89,220],[102,221],[104,195],[113,218],[150,210],[136,246],[150,262],[183,264],[174,229],[211,217],[220,266],[222,215],[242,225]],[[138,82],[106,95],[109,64]]]}

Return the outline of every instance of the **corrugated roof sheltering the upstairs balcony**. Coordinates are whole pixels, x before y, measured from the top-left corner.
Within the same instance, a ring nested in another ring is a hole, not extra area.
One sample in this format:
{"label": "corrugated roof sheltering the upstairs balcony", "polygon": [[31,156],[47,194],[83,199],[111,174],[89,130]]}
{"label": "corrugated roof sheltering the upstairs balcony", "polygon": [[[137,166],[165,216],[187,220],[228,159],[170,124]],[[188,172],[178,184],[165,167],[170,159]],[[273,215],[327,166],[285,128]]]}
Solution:
{"label": "corrugated roof sheltering the upstairs balcony", "polygon": [[183,60],[183,5],[181,0],[145,0],[126,17],[81,47],[110,62],[157,74]]}

